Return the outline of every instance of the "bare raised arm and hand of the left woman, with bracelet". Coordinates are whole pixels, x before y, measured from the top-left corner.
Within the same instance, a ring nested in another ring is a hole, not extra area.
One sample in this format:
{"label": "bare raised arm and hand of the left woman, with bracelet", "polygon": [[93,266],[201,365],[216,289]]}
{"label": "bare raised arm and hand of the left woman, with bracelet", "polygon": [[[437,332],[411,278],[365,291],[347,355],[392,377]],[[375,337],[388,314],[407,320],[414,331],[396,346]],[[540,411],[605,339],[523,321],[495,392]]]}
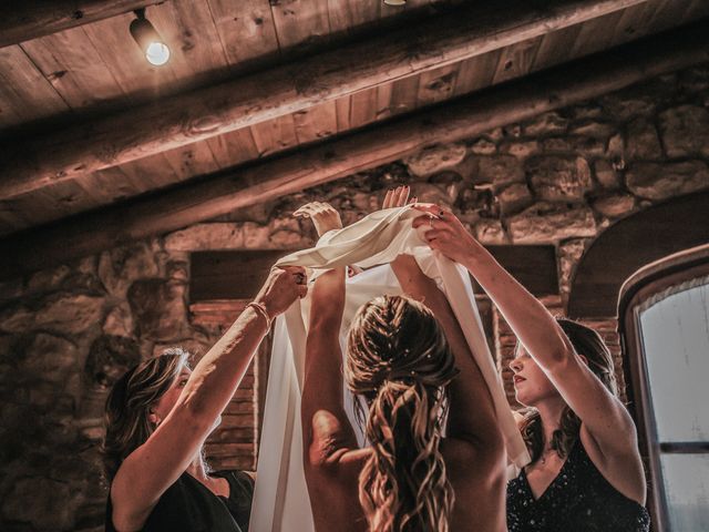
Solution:
{"label": "bare raised arm and hand of the left woman, with bracelet", "polygon": [[224,336],[199,360],[171,412],[121,464],[111,485],[113,521],[121,530],[145,522],[161,495],[186,470],[238,387],[269,319],[306,294],[305,272],[276,268]]}

